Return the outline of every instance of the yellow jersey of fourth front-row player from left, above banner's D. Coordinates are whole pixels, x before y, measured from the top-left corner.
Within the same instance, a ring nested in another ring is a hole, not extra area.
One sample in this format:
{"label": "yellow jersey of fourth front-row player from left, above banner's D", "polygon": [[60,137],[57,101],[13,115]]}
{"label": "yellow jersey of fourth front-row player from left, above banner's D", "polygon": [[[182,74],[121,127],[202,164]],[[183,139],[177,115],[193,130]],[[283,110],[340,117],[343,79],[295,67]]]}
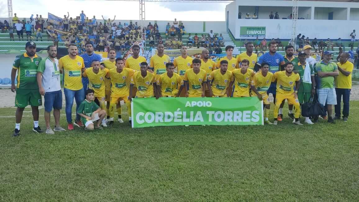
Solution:
{"label": "yellow jersey of fourth front-row player from left, above banner's D", "polygon": [[173,76],[169,78],[166,72],[159,76],[157,85],[161,86],[162,96],[175,96],[183,85],[183,81],[180,75],[173,73]]}

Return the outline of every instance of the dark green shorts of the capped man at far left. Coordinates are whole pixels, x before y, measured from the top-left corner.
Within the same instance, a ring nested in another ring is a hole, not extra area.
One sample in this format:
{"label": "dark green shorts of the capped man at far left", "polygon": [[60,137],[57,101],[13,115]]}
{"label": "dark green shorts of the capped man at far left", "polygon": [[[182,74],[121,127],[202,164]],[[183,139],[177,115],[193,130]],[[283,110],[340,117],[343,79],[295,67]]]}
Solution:
{"label": "dark green shorts of the capped man at far left", "polygon": [[24,108],[26,106],[41,106],[42,98],[38,89],[16,89],[15,106]]}

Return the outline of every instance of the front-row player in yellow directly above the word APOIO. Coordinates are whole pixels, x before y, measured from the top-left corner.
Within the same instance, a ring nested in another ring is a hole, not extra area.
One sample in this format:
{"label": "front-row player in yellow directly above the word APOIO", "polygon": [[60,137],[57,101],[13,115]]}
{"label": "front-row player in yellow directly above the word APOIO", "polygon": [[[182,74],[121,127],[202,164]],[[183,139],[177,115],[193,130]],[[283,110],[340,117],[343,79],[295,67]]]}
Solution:
{"label": "front-row player in yellow directly above the word APOIO", "polygon": [[[183,83],[185,85],[186,97],[205,97],[207,74],[206,71],[200,69],[201,60],[195,58],[192,60],[192,69],[187,69],[185,76],[183,77]],[[190,87],[190,88],[189,88]]]}

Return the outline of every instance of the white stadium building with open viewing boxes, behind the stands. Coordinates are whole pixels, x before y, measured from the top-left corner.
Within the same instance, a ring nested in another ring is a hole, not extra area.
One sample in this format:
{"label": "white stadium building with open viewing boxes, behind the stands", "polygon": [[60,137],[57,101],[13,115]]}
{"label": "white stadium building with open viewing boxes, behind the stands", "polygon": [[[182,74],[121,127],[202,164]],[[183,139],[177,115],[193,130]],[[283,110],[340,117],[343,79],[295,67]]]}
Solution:
{"label": "white stadium building with open viewing boxes, behind the stands", "polygon": [[[299,0],[296,33],[309,38],[350,40],[349,35],[353,29],[359,32],[359,3],[353,1],[357,0]],[[258,36],[289,40],[292,20],[288,16],[292,8],[293,1],[290,0],[233,1],[225,9],[227,30],[236,39],[253,39]],[[273,15],[278,12],[279,19],[269,19],[270,12]],[[241,19],[238,19],[239,13],[242,13]],[[250,14],[251,19],[246,19],[246,13]],[[252,19],[254,13],[258,19]]]}

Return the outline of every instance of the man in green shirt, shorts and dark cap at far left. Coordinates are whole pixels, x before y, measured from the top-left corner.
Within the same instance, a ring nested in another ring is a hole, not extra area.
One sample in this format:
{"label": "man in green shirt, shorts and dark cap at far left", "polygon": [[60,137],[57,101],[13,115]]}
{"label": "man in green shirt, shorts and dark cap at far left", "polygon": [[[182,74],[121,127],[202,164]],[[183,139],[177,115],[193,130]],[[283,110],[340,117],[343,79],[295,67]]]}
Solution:
{"label": "man in green shirt, shorts and dark cap at far left", "polygon": [[[13,136],[20,136],[20,123],[23,111],[26,106],[31,105],[32,116],[34,119],[33,131],[42,133],[39,127],[39,109],[42,100],[39,93],[38,84],[36,81],[37,68],[41,61],[41,57],[36,55],[36,44],[33,41],[28,41],[25,45],[26,52],[22,55],[16,56],[11,70],[11,91],[16,91],[15,106],[16,123]],[[17,75],[17,85],[15,86],[15,77]]]}

